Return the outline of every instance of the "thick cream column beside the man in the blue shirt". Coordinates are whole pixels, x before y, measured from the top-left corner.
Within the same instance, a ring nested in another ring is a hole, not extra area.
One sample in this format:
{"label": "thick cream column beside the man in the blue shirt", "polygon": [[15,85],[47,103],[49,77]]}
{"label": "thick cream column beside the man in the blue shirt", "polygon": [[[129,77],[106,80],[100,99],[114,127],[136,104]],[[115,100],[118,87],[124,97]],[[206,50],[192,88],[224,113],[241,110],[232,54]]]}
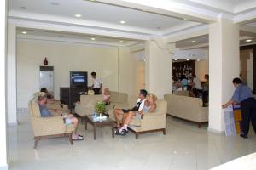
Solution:
{"label": "thick cream column beside the man in the blue shirt", "polygon": [[234,77],[239,77],[239,26],[232,20],[219,18],[209,27],[209,127],[210,131],[224,131],[221,105],[235,90]]}

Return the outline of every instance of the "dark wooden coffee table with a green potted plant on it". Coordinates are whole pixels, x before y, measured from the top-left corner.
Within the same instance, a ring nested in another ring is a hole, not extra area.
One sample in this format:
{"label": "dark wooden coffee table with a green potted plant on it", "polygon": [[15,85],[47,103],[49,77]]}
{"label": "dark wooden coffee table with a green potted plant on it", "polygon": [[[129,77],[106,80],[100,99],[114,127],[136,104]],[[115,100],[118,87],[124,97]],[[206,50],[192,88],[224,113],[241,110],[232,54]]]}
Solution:
{"label": "dark wooden coffee table with a green potted plant on it", "polygon": [[104,127],[104,126],[112,127],[112,138],[114,138],[115,122],[113,121],[113,119],[107,117],[106,119],[96,121],[90,115],[84,116],[84,119],[85,119],[85,130],[87,130],[88,122],[93,126],[93,136],[95,140],[96,140],[96,127]]}

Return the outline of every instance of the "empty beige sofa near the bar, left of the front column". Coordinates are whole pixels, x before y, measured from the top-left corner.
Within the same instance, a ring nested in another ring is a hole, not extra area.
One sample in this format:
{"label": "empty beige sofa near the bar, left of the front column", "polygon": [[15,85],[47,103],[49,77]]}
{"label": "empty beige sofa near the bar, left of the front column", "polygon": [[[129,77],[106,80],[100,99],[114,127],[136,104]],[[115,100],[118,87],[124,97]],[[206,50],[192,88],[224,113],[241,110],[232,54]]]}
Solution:
{"label": "empty beige sofa near the bar, left of the front column", "polygon": [[201,123],[208,122],[208,108],[202,107],[200,98],[165,94],[164,99],[167,102],[168,115],[196,122],[199,128]]}

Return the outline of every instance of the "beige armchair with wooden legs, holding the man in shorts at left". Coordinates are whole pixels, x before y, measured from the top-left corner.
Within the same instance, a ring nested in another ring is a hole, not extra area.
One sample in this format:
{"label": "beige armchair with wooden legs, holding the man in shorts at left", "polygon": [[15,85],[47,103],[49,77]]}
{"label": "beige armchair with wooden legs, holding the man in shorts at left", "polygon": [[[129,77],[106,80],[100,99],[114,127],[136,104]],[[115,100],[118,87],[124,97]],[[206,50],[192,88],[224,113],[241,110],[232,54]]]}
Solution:
{"label": "beige armchair with wooden legs, holding the man in shorts at left", "polygon": [[75,130],[73,124],[65,125],[62,116],[41,117],[37,99],[29,101],[28,109],[32,122],[35,149],[40,139],[69,137],[69,142],[73,144],[72,133]]}

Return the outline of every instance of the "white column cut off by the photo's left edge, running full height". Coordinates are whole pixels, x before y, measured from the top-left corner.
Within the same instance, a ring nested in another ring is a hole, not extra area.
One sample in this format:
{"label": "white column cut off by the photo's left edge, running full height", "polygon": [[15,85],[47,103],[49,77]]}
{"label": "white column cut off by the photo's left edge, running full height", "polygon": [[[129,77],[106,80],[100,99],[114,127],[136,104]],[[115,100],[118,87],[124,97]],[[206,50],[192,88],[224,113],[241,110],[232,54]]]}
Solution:
{"label": "white column cut off by the photo's left edge, running full height", "polygon": [[6,59],[6,1],[0,3],[0,170],[7,170],[6,109],[5,109],[5,59]]}

